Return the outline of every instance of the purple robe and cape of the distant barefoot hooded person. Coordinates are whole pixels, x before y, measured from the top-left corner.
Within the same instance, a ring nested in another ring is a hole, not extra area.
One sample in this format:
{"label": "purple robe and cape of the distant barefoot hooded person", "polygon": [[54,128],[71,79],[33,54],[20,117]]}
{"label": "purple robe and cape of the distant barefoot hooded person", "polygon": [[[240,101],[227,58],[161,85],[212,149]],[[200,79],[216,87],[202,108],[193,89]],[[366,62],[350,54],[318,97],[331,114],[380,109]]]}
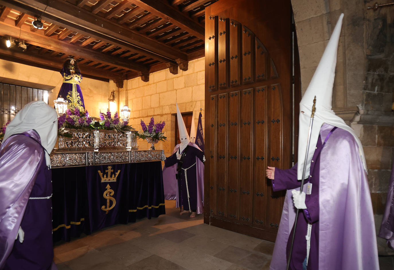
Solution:
{"label": "purple robe and cape of the distant barefoot hooded person", "polygon": [[[179,146],[179,144],[175,146],[173,154],[164,162],[164,196],[166,200],[176,199],[177,208],[183,206],[185,210],[189,210],[184,170],[181,169],[181,178],[178,181],[175,178],[178,164],[176,152],[178,151]],[[190,210],[196,210],[197,214],[201,214],[204,212],[204,153],[195,143],[189,143],[188,148],[182,168],[187,169],[186,173],[190,195]],[[195,165],[193,165],[194,163]]]}

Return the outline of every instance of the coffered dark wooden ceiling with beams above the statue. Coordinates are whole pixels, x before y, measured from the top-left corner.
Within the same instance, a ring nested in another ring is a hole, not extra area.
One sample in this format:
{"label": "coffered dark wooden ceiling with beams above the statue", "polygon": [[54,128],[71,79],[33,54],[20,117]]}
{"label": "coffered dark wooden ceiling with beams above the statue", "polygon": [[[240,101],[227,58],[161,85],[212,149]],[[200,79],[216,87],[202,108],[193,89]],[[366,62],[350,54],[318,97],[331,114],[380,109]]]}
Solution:
{"label": "coffered dark wooden ceiling with beams above the statue", "polygon": [[[123,81],[204,56],[205,7],[217,0],[0,0],[0,58],[60,70],[67,57],[83,75]],[[43,29],[32,21],[41,16]],[[7,48],[24,40],[26,51]]]}

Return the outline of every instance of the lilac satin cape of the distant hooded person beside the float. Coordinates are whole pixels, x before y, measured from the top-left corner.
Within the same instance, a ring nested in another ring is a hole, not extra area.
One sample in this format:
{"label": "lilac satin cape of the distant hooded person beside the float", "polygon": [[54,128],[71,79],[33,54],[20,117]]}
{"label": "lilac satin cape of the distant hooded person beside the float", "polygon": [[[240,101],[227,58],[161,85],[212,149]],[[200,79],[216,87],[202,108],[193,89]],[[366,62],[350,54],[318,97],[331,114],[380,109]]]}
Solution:
{"label": "lilac satin cape of the distant hooded person beside the float", "polygon": [[[195,143],[189,143],[188,145],[195,147],[201,151],[201,149]],[[175,146],[174,151],[171,155],[178,151],[180,144]],[[197,171],[197,214],[204,213],[204,163],[196,157],[196,171]],[[178,184],[177,178],[177,164],[163,168],[163,186],[164,186],[164,198],[165,200],[177,200],[176,207],[179,207],[178,201]]]}

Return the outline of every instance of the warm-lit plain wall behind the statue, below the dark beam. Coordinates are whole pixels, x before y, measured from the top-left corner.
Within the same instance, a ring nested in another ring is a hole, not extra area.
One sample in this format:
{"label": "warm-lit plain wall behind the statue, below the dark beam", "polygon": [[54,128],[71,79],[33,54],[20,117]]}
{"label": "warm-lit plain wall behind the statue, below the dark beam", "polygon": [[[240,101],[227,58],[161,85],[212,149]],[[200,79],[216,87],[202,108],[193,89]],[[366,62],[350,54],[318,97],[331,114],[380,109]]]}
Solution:
{"label": "warm-lit plain wall behind the statue, below the dark beam", "polygon": [[[0,67],[0,82],[48,90],[48,104],[53,106],[63,82],[59,72],[2,59],[0,59]],[[83,78],[80,86],[85,108],[91,116],[97,117],[99,110],[107,110],[108,97],[112,89],[117,90],[113,81],[104,82],[89,78]]]}

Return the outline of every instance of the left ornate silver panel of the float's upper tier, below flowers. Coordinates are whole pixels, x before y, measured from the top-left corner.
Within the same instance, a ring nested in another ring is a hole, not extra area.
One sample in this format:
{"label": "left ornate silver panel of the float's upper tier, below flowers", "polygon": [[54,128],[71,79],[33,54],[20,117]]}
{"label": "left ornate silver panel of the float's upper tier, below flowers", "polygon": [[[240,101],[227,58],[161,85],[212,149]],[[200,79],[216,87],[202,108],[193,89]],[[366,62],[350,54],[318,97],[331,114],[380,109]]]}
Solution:
{"label": "left ornate silver panel of the float's upper tier, below flowers", "polygon": [[59,137],[58,149],[81,149],[90,150],[98,148],[98,134],[97,130],[75,130],[66,129],[72,138]]}

